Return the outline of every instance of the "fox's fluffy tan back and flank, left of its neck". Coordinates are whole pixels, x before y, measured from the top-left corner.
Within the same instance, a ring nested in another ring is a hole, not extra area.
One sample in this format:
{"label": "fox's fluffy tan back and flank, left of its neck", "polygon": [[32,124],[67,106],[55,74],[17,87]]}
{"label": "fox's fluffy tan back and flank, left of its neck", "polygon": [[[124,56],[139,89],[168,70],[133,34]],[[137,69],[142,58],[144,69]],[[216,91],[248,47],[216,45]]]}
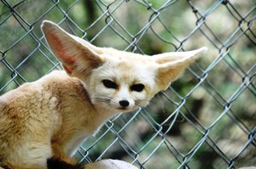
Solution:
{"label": "fox's fluffy tan back and flank, left of its neck", "polygon": [[0,166],[51,157],[50,141],[61,127],[61,98],[73,93],[72,85],[77,85],[73,78],[55,71],[0,96]]}

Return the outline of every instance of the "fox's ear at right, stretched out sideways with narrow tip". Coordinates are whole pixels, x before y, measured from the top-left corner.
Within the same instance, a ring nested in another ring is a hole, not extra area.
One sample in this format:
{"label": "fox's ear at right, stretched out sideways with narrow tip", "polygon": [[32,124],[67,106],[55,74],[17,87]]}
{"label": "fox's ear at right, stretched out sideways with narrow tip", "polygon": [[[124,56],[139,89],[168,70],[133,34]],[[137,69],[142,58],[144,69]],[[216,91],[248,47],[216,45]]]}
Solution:
{"label": "fox's ear at right, stretched out sideways with narrow tip", "polygon": [[154,61],[158,64],[157,84],[160,90],[166,90],[171,82],[177,79],[183,70],[198,58],[197,54],[206,52],[207,48],[199,48],[188,52],[172,52],[166,54],[156,54]]}

